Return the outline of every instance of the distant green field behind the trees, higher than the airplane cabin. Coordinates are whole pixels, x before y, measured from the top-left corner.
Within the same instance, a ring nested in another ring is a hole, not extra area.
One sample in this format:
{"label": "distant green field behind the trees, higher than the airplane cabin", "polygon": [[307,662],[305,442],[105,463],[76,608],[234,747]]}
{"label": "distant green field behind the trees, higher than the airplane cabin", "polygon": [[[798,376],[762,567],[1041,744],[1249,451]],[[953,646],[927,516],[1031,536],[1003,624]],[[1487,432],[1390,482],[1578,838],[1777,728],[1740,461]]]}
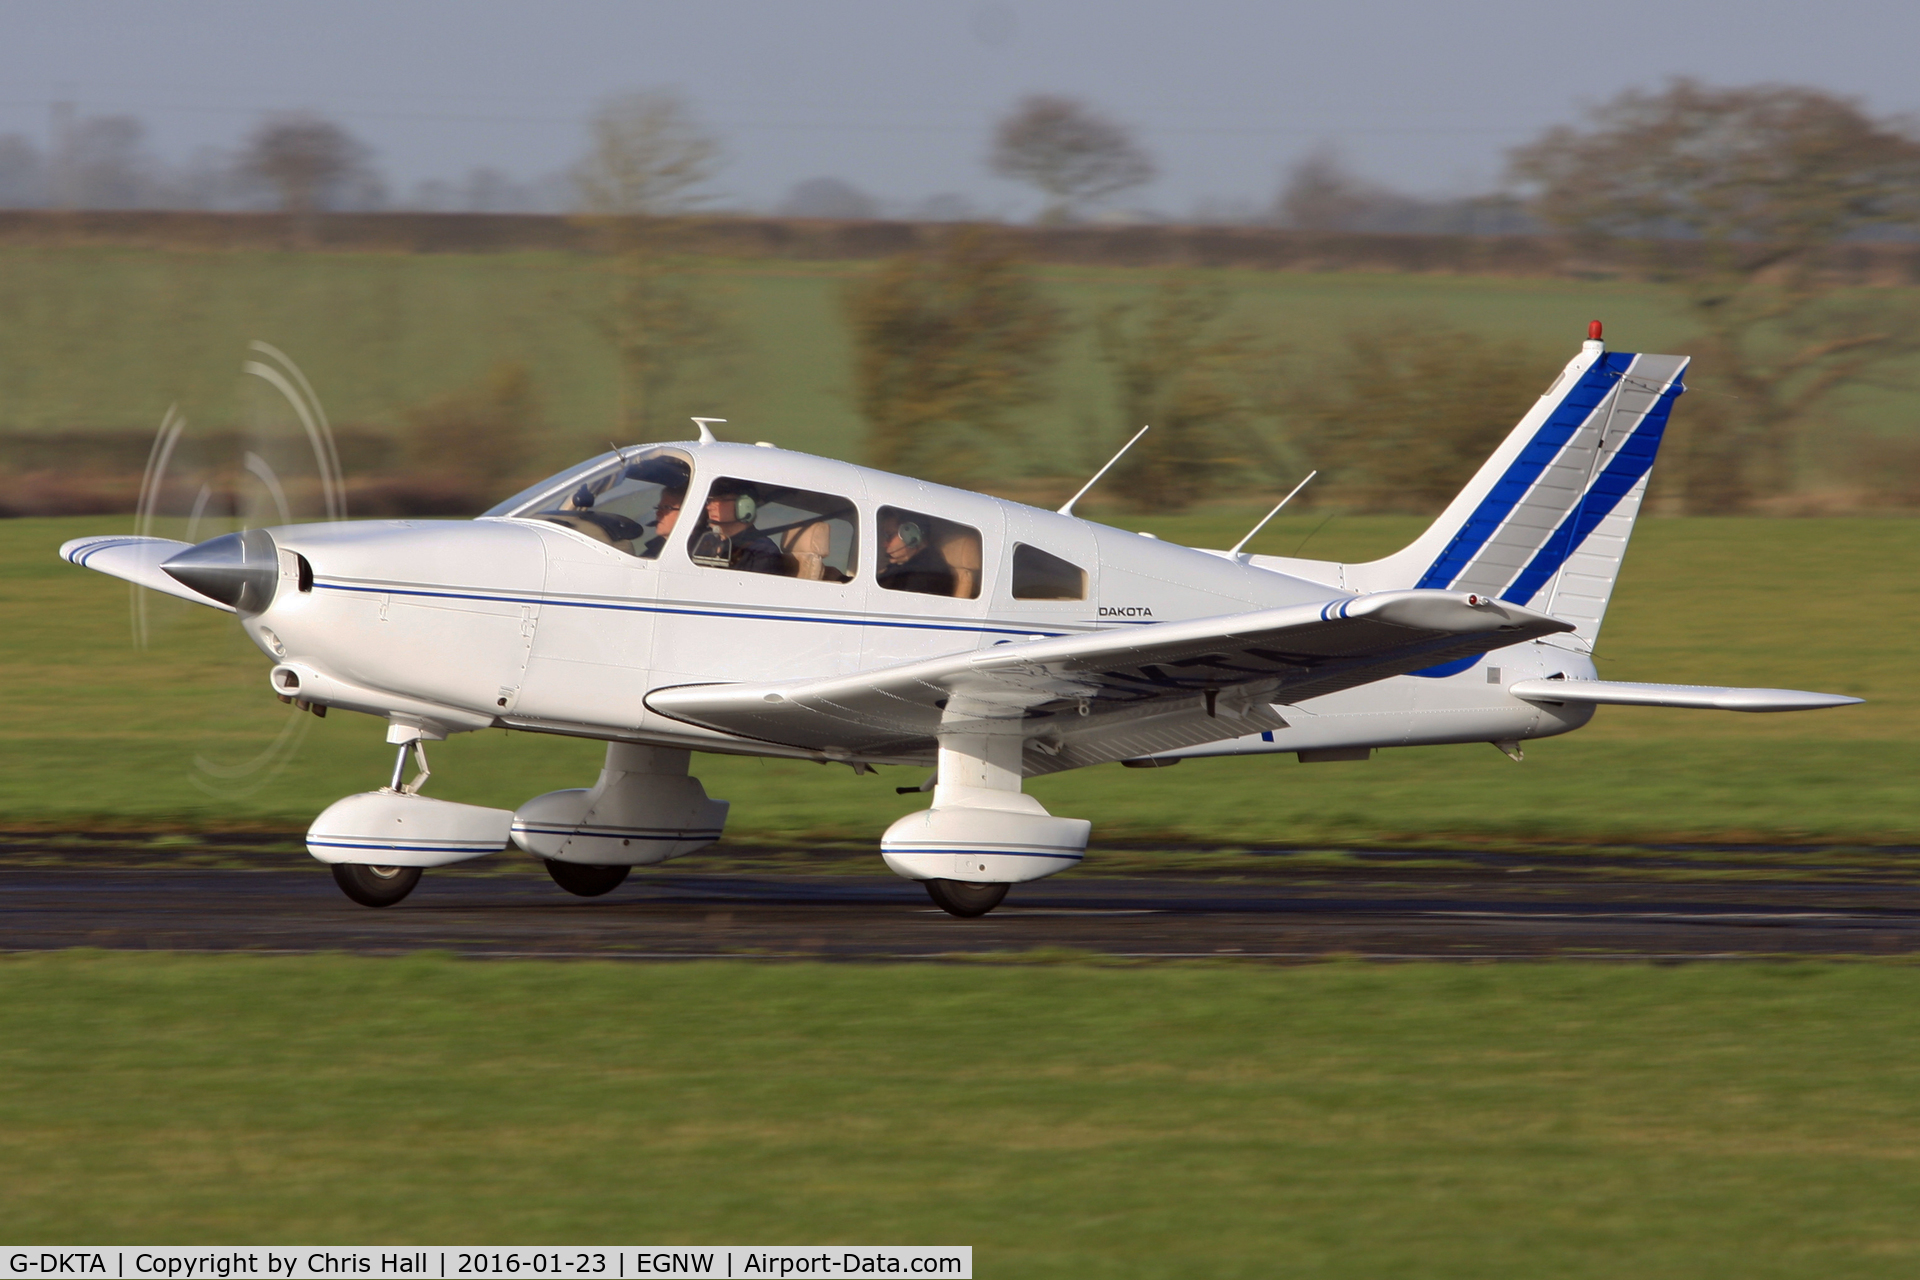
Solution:
{"label": "distant green field behind the trees, higher than the airplane cabin", "polygon": [[[597,324],[605,265],[566,253],[192,253],[157,249],[0,249],[0,430],[150,428],[179,401],[194,422],[234,415],[248,340],[288,351],[332,418],[397,428],[403,411],[518,359],[545,405],[559,466],[614,422],[612,353]],[[693,267],[733,317],[728,367],[674,413],[712,413],[747,439],[854,457],[841,294],[872,263],[701,261]],[[1083,472],[1121,430],[1085,326],[1100,307],[1140,297],[1164,273],[1037,269],[1081,322],[1056,395],[1023,418],[1020,464]],[[1667,294],[1647,284],[1411,276],[1369,273],[1206,273],[1236,315],[1290,347],[1302,368],[1354,324],[1413,315],[1542,353],[1542,384],[1594,317],[1626,349],[1665,349],[1686,334]],[[1862,420],[1910,430],[1914,397],[1862,405]],[[1526,405],[1515,405],[1515,418]]]}

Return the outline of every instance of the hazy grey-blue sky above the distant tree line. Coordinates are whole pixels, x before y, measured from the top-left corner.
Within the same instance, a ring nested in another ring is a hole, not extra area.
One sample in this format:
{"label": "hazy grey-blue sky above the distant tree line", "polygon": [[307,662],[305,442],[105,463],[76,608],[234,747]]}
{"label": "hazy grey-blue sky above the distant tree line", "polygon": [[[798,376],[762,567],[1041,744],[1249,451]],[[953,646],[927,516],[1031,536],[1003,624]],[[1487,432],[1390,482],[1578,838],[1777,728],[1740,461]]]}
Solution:
{"label": "hazy grey-blue sky above the distant tree line", "polygon": [[1586,102],[1688,73],[1791,81],[1920,111],[1914,0],[0,0],[0,132],[50,104],[144,117],[169,159],[317,109],[405,192],[476,165],[520,178],[582,150],[595,100],[682,90],[726,142],[728,203],[847,178],[895,203],[1033,203],[983,163],[1020,94],[1083,96],[1140,129],[1137,203],[1271,200],[1332,144],[1423,194],[1492,184],[1501,154]]}

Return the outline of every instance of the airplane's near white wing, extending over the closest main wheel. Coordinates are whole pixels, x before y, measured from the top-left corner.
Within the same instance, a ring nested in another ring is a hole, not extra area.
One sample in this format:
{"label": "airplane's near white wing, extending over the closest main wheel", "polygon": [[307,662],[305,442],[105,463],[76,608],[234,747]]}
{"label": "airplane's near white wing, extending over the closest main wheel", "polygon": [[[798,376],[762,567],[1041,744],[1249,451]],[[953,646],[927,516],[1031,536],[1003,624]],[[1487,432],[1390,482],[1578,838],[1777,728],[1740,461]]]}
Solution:
{"label": "airplane's near white wing, extending over the closest main wheel", "polygon": [[680,685],[647,706],[829,758],[929,758],[937,735],[1023,720],[1052,773],[1284,727],[1273,702],[1352,689],[1571,631],[1484,595],[1380,591],[1325,604],[1064,635],[833,679]]}

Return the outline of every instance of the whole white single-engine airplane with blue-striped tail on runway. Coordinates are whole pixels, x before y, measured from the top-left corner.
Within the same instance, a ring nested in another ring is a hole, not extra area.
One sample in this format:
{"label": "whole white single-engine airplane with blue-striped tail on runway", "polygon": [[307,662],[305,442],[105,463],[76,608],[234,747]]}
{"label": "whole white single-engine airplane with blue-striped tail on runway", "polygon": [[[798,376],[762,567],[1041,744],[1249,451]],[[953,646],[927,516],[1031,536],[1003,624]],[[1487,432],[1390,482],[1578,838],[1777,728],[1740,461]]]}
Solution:
{"label": "whole white single-engine airplane with blue-striped tail on runway", "polygon": [[[1404,551],[1334,564],[1198,551],[1071,514],[701,438],[605,453],[476,520],[255,528],[61,555],[225,608],[273,691],[388,722],[388,787],[307,831],[349,898],[509,842],[576,894],[720,837],[689,752],[931,766],[887,865],[956,915],[1077,864],[1091,823],[1021,793],[1119,760],[1521,743],[1601,702],[1857,702],[1597,679],[1592,651],[1684,357],[1599,324]],[[1244,543],[1242,543],[1244,545]],[[420,794],[426,741],[507,727],[607,743],[591,789],[516,810]],[[405,781],[407,756],[420,773]]]}

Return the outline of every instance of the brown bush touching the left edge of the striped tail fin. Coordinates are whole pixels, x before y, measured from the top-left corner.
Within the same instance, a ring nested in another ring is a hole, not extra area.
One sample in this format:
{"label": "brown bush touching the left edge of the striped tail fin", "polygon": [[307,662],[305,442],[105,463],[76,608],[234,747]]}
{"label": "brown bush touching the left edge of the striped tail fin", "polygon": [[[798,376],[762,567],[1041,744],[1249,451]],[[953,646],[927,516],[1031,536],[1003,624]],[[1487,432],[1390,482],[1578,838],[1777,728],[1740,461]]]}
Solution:
{"label": "brown bush touching the left edge of the striped tail fin", "polygon": [[1434,514],[1551,378],[1553,357],[1444,324],[1350,330],[1292,380],[1294,447],[1321,470],[1319,501]]}

